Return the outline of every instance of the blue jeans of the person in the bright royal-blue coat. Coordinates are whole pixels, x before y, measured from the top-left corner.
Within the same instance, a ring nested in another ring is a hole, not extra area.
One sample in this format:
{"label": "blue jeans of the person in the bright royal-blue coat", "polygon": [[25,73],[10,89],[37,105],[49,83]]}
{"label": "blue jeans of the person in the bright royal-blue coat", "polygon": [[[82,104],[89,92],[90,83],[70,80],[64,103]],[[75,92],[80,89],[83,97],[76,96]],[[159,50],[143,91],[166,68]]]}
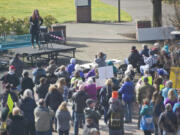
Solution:
{"label": "blue jeans of the person in the bright royal-blue coat", "polygon": [[125,122],[132,122],[132,103],[125,103],[124,106],[124,111],[125,111]]}

